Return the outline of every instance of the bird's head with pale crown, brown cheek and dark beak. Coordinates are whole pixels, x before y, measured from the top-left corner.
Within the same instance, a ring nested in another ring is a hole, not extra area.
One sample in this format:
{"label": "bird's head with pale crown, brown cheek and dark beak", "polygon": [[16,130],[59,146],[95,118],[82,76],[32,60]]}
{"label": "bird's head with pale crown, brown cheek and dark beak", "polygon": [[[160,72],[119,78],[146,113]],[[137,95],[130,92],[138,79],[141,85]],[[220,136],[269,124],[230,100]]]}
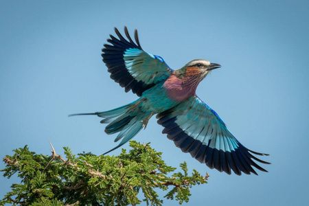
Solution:
{"label": "bird's head with pale crown, brown cheek and dark beak", "polygon": [[208,60],[196,59],[188,62],[183,68],[176,70],[175,75],[179,78],[195,78],[201,81],[211,70],[220,67],[221,65],[211,63]]}

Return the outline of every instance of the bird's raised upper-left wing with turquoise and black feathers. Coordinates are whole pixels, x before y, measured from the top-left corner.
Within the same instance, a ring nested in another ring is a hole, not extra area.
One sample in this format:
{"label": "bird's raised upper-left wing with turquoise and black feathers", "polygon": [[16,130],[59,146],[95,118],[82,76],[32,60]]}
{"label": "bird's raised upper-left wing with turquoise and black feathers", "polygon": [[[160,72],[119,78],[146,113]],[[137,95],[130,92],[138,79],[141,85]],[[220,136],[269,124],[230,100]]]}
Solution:
{"label": "bird's raised upper-left wing with turquoise and black feathers", "polygon": [[163,58],[144,52],[139,45],[137,30],[135,30],[135,41],[133,42],[128,34],[128,29],[124,27],[126,38],[115,32],[119,39],[110,35],[107,41],[111,45],[104,45],[102,49],[103,62],[111,73],[111,78],[118,82],[125,91],[130,90],[138,96],[153,87],[158,82],[166,80],[172,69],[166,65]]}

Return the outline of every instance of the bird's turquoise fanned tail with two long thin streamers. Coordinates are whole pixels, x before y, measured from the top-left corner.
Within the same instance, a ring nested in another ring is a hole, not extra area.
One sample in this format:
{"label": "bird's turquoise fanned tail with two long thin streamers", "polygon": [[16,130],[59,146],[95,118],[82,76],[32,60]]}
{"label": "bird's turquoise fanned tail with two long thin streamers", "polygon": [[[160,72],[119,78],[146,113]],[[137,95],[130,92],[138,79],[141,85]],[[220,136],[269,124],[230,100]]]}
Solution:
{"label": "bird's turquoise fanned tail with two long thin streamers", "polygon": [[[118,146],[108,151],[111,152],[135,137],[141,128],[146,127],[148,119],[152,116],[152,113],[142,112],[140,110],[139,103],[140,101],[135,101],[130,104],[114,108],[110,111],[79,113],[69,116],[98,115],[98,117],[103,117],[104,119],[101,120],[101,123],[108,124],[105,128],[105,133],[108,135],[119,133],[115,141],[123,138]],[[108,152],[105,152],[103,155],[107,154]]]}

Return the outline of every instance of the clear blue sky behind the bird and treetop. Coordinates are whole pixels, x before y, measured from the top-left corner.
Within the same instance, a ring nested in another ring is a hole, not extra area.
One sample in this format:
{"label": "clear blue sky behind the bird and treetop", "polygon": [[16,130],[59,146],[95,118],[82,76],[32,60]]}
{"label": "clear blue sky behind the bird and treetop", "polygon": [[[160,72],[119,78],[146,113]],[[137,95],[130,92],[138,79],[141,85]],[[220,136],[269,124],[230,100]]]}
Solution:
{"label": "clear blue sky behind the bird and treetop", "polygon": [[[126,25],[173,69],[196,58],[222,65],[197,94],[244,146],[271,154],[259,176],[210,170],[162,135],[153,117],[135,140],[151,141],[169,165],[187,161],[210,175],[187,205],[306,205],[308,10],[308,1],[295,0],[0,1],[0,157],[25,144],[49,155],[48,140],[59,154],[63,146],[100,155],[117,145],[100,118],[67,115],[137,98],[109,78],[100,56],[113,27]],[[0,177],[0,198],[16,180]]]}

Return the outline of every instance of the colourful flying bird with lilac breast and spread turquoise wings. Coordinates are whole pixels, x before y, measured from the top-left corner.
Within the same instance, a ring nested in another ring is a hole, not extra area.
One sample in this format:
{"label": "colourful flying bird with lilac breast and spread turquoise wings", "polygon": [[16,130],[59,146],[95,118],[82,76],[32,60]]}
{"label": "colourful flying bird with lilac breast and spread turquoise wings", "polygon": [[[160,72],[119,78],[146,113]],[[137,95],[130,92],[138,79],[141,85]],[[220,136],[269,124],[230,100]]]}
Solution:
{"label": "colourful flying bird with lilac breast and spread turquoise wings", "polygon": [[[268,154],[254,152],[242,146],[219,115],[196,95],[198,84],[221,65],[208,60],[196,59],[181,69],[173,70],[161,58],[141,48],[137,30],[135,42],[124,27],[126,38],[115,27],[118,38],[110,35],[102,49],[102,60],[111,73],[111,79],[132,91],[139,98],[130,104],[110,111],[78,113],[75,115],[98,115],[100,123],[107,124],[105,133],[118,133],[115,141],[120,143],[111,152],[135,137],[148,120],[156,115],[163,126],[163,134],[174,141],[182,152],[209,168],[237,175],[256,174],[254,168],[268,172],[258,163],[270,164],[255,157]],[[105,152],[106,155],[108,152]],[[254,161],[253,161],[254,160]]]}

